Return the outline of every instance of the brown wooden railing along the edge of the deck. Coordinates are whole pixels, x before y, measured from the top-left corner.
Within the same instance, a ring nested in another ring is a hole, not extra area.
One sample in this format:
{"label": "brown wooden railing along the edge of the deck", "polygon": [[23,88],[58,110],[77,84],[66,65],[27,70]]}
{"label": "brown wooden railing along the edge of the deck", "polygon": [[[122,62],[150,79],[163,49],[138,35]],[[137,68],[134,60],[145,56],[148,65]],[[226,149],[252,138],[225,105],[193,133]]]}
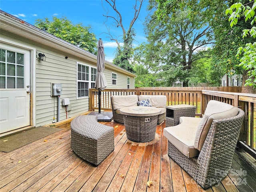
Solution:
{"label": "brown wooden railing along the edge of the deck", "polygon": [[[98,109],[98,91],[89,91],[89,110]],[[239,136],[238,145],[256,159],[256,94],[221,92],[212,90],[176,90],[176,89],[105,89],[101,92],[101,110],[111,110],[110,97],[113,95],[165,95],[166,105],[190,104],[196,106],[196,116],[202,117],[209,100],[218,100],[238,106],[246,113]]]}

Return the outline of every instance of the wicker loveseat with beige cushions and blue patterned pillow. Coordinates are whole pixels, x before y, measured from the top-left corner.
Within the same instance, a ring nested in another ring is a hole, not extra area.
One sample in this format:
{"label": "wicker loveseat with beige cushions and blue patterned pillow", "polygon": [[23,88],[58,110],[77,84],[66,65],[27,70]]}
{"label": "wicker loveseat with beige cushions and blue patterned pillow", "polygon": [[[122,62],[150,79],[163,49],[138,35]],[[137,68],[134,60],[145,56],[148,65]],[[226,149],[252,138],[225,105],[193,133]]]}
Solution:
{"label": "wicker loveseat with beige cushions and blue patterned pillow", "polygon": [[166,118],[166,96],[164,95],[116,95],[111,96],[111,105],[113,119],[116,122],[124,124],[123,115],[120,113],[120,108],[138,106],[137,102],[149,100],[152,107],[159,108],[161,113],[158,115],[157,124],[160,125]]}

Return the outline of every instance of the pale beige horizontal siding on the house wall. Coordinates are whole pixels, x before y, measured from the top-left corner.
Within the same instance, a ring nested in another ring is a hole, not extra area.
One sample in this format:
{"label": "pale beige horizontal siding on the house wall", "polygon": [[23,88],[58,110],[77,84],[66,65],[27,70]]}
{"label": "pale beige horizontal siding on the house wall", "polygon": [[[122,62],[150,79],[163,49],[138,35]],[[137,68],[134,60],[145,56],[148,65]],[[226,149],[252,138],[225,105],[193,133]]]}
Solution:
{"label": "pale beige horizontal siding on the house wall", "polygon": [[[66,119],[65,106],[62,106],[61,103],[63,98],[69,98],[72,106],[72,110],[68,112],[68,118],[88,111],[89,98],[77,98],[76,95],[76,64],[78,62],[96,68],[96,60],[94,62],[86,58],[81,60],[81,58],[70,54],[69,50],[66,50],[66,52],[59,51],[4,30],[1,30],[1,40],[3,42],[4,40],[10,40],[33,47],[36,52],[33,53],[31,58],[36,57],[36,54],[40,52],[46,56],[46,61],[36,59],[36,62],[31,64],[31,68],[35,68],[35,78],[32,78],[32,74],[30,77],[31,86],[34,85],[34,90],[31,88],[31,100],[35,96],[35,103],[32,104],[35,111],[31,110],[35,113],[36,118],[33,126],[44,126],[52,123],[54,117],[57,119],[58,96],[51,96],[51,83],[62,84],[59,121]],[[68,56],[68,59],[65,59],[65,56]],[[111,84],[112,72],[117,74],[117,86]],[[118,68],[113,71],[113,67],[106,66],[104,74],[108,83],[107,88],[127,88],[127,74],[122,74],[122,71],[120,72]],[[130,76],[130,88],[134,88],[133,82],[134,77]]]}

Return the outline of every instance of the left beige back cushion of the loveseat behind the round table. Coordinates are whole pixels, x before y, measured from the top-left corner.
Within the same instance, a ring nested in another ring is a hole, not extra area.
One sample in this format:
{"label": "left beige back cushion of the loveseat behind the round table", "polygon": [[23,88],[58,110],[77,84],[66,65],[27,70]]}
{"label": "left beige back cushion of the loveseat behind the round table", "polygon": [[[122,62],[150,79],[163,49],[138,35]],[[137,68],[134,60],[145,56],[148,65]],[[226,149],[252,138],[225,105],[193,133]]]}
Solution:
{"label": "left beige back cushion of the loveseat behind the round table", "polygon": [[123,107],[137,106],[138,96],[137,95],[114,95],[112,96],[112,104],[114,110]]}

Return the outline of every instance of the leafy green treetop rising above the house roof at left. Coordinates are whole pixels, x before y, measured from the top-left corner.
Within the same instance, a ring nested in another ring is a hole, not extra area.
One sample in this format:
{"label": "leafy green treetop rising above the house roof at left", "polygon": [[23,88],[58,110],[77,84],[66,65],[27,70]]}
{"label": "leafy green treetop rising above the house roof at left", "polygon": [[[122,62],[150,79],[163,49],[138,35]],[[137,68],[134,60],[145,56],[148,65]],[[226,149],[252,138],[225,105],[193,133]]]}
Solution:
{"label": "leafy green treetop rising above the house roof at left", "polygon": [[35,26],[71,44],[74,44],[92,54],[97,53],[97,39],[94,33],[90,32],[90,26],[72,24],[66,17],[52,17],[37,19]]}

